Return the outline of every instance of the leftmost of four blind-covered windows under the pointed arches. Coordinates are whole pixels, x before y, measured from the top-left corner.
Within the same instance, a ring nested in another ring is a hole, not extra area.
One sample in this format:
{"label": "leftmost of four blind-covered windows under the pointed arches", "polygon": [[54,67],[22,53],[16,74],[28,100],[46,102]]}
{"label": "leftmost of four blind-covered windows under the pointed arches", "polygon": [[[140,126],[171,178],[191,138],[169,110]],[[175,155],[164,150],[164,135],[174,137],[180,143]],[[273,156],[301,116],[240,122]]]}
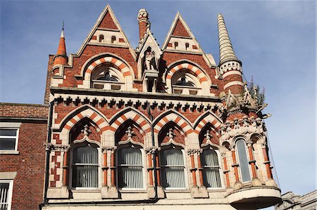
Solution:
{"label": "leftmost of four blind-covered windows under the pointed arches", "polygon": [[98,150],[91,145],[73,149],[73,188],[98,188]]}

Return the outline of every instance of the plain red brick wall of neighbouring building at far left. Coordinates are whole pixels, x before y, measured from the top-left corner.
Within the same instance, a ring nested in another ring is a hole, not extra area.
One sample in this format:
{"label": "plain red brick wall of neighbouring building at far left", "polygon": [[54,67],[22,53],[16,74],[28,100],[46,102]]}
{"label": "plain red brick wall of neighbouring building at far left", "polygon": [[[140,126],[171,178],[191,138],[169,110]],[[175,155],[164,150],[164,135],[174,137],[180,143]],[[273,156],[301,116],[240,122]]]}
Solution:
{"label": "plain red brick wall of neighbouring building at far left", "polygon": [[39,209],[43,202],[46,123],[23,123],[19,155],[0,155],[0,171],[17,171],[13,181],[12,209]]}

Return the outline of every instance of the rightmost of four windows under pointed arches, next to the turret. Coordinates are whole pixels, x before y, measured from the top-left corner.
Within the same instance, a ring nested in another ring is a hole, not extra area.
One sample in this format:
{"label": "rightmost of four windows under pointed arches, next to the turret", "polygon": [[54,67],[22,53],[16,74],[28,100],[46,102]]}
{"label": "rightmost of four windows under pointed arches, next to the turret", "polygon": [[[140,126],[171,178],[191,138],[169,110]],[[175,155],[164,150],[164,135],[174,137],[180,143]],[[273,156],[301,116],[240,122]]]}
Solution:
{"label": "rightmost of four windows under pointed arches, next to the turret", "polygon": [[204,150],[201,155],[204,167],[204,185],[206,188],[221,188],[220,166],[218,154],[215,150]]}

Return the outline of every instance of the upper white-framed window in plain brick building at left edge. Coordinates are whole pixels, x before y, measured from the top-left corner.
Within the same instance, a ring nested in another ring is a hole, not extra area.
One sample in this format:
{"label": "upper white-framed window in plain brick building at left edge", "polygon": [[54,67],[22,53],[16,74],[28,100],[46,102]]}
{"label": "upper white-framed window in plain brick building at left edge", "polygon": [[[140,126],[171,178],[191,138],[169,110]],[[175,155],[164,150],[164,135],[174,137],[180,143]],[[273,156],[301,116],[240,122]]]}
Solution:
{"label": "upper white-framed window in plain brick building at left edge", "polygon": [[19,129],[0,128],[0,151],[1,150],[17,150],[18,131]]}

